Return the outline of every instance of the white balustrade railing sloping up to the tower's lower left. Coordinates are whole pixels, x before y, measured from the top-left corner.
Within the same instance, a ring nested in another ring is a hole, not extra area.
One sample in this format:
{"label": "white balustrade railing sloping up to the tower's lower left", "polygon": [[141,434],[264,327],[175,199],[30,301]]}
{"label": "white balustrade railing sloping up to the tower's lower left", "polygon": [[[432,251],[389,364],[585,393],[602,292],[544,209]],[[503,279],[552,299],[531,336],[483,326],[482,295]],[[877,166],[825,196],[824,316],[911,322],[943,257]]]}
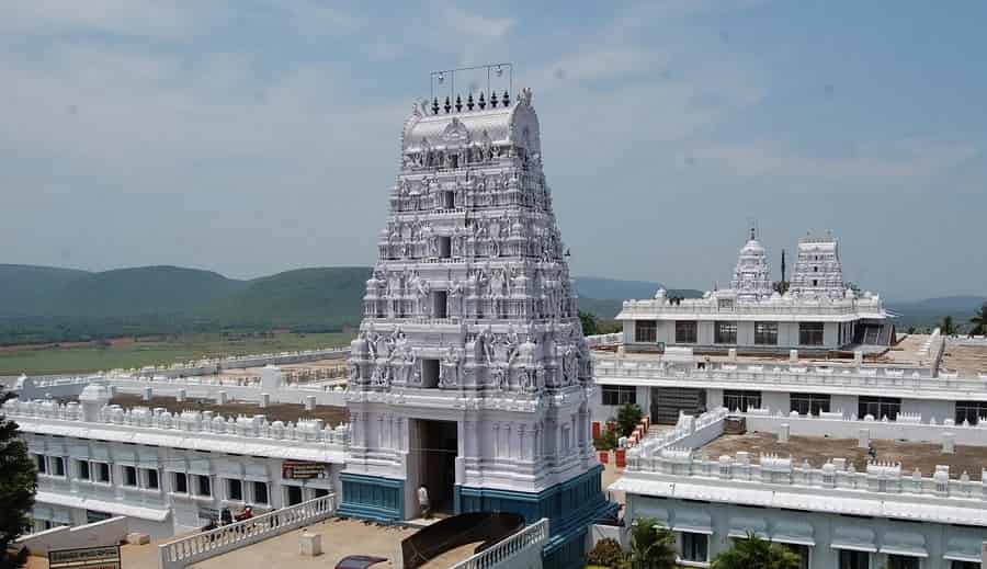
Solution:
{"label": "white balustrade railing sloping up to the tower's lower left", "polygon": [[158,546],[158,569],[181,569],[234,549],[330,517],[336,494],[200,532]]}

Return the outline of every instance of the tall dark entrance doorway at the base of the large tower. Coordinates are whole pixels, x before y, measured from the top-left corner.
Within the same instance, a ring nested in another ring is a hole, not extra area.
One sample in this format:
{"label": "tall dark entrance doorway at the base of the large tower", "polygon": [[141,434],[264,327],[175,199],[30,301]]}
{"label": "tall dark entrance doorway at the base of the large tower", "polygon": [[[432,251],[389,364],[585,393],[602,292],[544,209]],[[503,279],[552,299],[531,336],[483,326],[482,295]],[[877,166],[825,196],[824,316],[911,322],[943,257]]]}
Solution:
{"label": "tall dark entrance doorway at the base of the large tower", "polygon": [[456,483],[458,426],[455,421],[419,419],[417,423],[420,443],[418,447],[419,485],[424,486],[429,492],[429,502],[433,514],[453,514],[455,513],[453,491]]}

